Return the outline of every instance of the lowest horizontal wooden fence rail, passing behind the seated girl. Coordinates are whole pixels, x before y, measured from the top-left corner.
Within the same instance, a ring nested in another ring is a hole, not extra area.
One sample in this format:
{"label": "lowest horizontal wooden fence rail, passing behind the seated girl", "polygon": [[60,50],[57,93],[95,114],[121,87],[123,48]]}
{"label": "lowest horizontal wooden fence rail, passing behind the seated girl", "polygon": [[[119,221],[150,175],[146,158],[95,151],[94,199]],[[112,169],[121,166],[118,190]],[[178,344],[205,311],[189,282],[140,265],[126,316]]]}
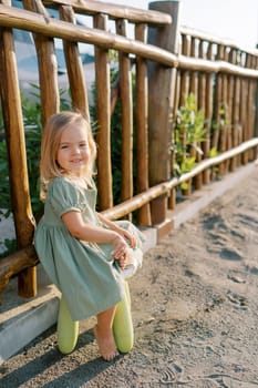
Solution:
{"label": "lowest horizontal wooden fence rail, passing behind the seated girl", "polygon": [[[174,177],[168,182],[161,183],[155,185],[146,192],[135,195],[131,200],[124,201],[120,205],[116,205],[107,211],[102,212],[110,219],[118,219],[125,216],[133,211],[142,207],[146,203],[157,198],[161,195],[169,193],[173,187],[189,181],[194,176],[198,175],[203,171],[218,165],[234,156],[237,156],[244,153],[247,150],[254,149],[258,146],[258,137],[249,140],[235,149],[231,149],[221,155],[205,160],[193,169],[189,173],[183,174],[180,177]],[[1,304],[1,295],[6,289],[10,278],[13,275],[17,275],[19,272],[32,267],[39,263],[39,258],[37,257],[37,253],[34,246],[28,246],[23,249],[17,251],[12,255],[9,255],[0,261],[0,304]]]}

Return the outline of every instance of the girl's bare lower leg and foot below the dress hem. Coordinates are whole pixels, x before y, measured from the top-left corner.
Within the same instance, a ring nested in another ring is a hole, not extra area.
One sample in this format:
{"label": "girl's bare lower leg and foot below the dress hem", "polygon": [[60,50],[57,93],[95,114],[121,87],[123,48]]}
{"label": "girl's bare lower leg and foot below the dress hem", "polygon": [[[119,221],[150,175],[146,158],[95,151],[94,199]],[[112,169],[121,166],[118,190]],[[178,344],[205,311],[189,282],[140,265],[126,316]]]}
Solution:
{"label": "girl's bare lower leg and foot below the dress hem", "polygon": [[112,360],[118,355],[113,336],[113,320],[116,306],[97,314],[97,324],[94,327],[94,335],[97,341],[101,356],[106,360]]}

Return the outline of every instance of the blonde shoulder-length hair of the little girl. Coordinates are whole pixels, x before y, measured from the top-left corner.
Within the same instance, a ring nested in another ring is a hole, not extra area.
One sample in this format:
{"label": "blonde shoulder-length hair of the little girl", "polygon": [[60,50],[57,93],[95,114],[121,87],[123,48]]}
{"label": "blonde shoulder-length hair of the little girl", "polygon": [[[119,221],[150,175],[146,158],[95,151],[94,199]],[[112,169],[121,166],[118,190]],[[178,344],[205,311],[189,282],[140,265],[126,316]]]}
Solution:
{"label": "blonde shoulder-length hair of the little girl", "polygon": [[41,175],[41,193],[42,200],[45,198],[45,194],[50,182],[58,176],[63,176],[64,173],[60,169],[56,162],[56,154],[60,145],[60,140],[63,131],[71,124],[78,124],[85,129],[87,133],[89,146],[91,150],[91,157],[89,166],[85,171],[85,177],[90,178],[93,175],[93,166],[96,157],[96,144],[93,139],[91,124],[80,113],[72,111],[63,111],[53,114],[44,125],[41,143],[41,161],[40,161],[40,175]]}

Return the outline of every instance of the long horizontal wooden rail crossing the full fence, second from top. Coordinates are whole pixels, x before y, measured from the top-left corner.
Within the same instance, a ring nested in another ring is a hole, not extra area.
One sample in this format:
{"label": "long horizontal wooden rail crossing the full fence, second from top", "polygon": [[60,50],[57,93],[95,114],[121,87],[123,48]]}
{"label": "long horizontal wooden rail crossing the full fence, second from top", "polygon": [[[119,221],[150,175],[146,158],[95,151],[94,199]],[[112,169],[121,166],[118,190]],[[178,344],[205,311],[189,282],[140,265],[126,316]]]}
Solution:
{"label": "long horizontal wooden rail crossing the full fence, second from top", "polygon": [[37,32],[47,37],[65,39],[71,42],[83,42],[136,54],[161,64],[187,70],[199,70],[211,73],[229,74],[258,79],[258,70],[245,69],[224,61],[208,61],[185,55],[175,55],[152,44],[133,41],[122,35],[97,29],[74,25],[72,23],[45,19],[34,12],[13,9],[0,4],[0,25]]}

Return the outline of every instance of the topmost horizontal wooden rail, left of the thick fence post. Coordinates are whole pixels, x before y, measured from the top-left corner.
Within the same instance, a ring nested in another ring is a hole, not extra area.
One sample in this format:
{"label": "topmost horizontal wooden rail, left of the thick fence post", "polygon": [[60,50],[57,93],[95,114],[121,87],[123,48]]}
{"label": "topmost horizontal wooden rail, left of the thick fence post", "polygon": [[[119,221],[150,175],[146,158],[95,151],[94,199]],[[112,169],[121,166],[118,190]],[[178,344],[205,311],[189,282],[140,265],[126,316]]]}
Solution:
{"label": "topmost horizontal wooden rail, left of the thick fence post", "polygon": [[107,14],[110,19],[126,19],[134,23],[148,23],[148,24],[171,24],[172,17],[167,13],[152,11],[152,10],[141,10],[138,8],[128,6],[118,6],[114,3],[105,2],[105,11],[103,12],[103,3],[94,0],[43,0],[45,7],[51,7],[58,9],[60,6],[70,6],[75,12],[82,14]]}

